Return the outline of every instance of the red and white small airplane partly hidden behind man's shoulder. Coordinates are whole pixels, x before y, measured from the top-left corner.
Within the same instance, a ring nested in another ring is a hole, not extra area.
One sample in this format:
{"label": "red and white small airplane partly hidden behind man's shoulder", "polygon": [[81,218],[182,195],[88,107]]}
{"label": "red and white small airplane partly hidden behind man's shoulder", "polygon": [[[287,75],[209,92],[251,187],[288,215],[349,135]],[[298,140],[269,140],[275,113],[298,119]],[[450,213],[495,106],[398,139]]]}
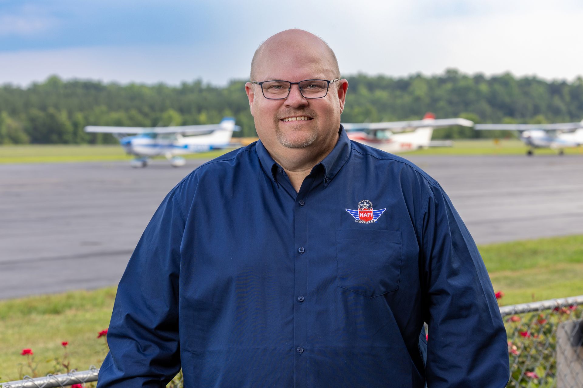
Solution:
{"label": "red and white small airplane partly hidden behind man's shoulder", "polygon": [[436,120],[436,116],[433,113],[427,112],[423,120],[384,123],[343,123],[342,125],[351,140],[382,149],[382,151],[386,152],[403,152],[430,146],[443,147],[451,145],[451,142],[431,141],[433,129],[454,125],[473,127],[474,123],[462,118]]}

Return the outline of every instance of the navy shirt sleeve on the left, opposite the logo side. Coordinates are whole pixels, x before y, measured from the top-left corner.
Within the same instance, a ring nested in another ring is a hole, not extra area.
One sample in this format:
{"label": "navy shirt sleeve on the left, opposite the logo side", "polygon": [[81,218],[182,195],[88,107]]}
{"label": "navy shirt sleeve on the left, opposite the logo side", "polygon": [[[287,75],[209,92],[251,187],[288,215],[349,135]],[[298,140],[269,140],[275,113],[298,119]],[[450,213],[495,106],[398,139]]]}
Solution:
{"label": "navy shirt sleeve on the left, opposite the logo side", "polygon": [[175,190],[154,213],[121,278],[99,388],[165,387],[180,371],[178,276],[185,218]]}

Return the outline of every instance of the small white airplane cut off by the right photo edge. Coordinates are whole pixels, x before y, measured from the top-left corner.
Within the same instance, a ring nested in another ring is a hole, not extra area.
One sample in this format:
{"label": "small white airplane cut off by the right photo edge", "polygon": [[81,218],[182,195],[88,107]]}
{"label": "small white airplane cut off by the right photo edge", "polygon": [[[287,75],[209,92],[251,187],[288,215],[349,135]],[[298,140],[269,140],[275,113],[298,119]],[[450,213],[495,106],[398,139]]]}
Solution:
{"label": "small white airplane cut off by the right photo edge", "polygon": [[564,148],[576,148],[583,144],[583,120],[580,123],[554,124],[476,124],[476,130],[514,130],[529,148],[532,156],[535,148],[556,149],[559,155]]}

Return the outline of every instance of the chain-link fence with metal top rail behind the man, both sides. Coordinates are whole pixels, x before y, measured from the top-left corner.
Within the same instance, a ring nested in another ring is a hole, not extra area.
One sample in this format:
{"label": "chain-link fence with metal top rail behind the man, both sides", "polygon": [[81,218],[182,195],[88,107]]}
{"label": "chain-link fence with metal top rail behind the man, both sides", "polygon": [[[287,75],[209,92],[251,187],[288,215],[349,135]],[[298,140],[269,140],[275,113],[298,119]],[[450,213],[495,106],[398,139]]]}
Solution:
{"label": "chain-link fence with metal top rail behind the man, both sides", "polygon": [[[507,387],[583,387],[583,296],[500,307],[508,336]],[[93,386],[99,369],[0,383],[0,388]],[[182,388],[179,373],[168,388]]]}

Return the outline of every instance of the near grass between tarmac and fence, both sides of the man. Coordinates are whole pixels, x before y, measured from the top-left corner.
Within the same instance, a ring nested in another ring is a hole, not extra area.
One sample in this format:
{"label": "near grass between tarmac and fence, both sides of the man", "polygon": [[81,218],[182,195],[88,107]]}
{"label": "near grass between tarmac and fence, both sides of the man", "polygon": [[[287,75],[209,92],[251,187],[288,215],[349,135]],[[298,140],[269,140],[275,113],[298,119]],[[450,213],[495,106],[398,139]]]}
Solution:
{"label": "near grass between tarmac and fence, both sides of the man", "polygon": [[[494,290],[505,294],[501,304],[583,294],[583,235],[479,248]],[[96,337],[107,328],[114,297],[115,287],[108,287],[0,301],[0,381],[20,378],[23,348],[33,350],[44,376],[62,355],[62,341],[69,342],[72,367],[99,366],[106,350]]]}

